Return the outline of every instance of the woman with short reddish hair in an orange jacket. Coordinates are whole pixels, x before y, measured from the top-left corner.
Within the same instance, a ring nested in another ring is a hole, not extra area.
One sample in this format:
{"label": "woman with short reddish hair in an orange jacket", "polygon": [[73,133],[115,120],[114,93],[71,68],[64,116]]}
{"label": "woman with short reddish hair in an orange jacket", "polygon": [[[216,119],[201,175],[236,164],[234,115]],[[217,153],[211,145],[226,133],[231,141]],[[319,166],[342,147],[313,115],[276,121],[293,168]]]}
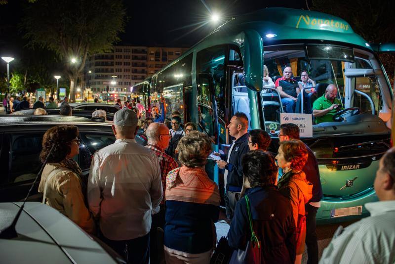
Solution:
{"label": "woman with short reddish hair in an orange jacket", "polygon": [[276,156],[278,167],[283,172],[277,187],[291,201],[293,218],[297,230],[295,264],[302,262],[306,238],[305,205],[312,198],[313,184],[306,180],[306,175],[302,171],[308,155],[305,144],[300,140],[293,139],[280,142]]}

